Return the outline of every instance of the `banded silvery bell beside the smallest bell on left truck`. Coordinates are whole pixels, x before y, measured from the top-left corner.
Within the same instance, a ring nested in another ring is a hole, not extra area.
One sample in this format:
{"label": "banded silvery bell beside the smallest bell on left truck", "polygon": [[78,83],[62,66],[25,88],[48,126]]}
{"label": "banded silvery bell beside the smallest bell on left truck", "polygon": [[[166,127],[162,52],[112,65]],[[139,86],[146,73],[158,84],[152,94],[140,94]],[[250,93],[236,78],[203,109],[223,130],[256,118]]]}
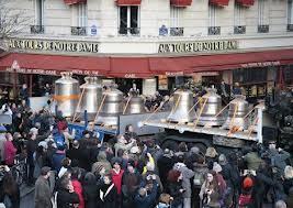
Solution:
{"label": "banded silvery bell beside the smallest bell on left truck", "polygon": [[123,112],[123,92],[111,87],[103,91],[103,103],[98,116],[98,123],[104,125],[119,124],[119,116]]}

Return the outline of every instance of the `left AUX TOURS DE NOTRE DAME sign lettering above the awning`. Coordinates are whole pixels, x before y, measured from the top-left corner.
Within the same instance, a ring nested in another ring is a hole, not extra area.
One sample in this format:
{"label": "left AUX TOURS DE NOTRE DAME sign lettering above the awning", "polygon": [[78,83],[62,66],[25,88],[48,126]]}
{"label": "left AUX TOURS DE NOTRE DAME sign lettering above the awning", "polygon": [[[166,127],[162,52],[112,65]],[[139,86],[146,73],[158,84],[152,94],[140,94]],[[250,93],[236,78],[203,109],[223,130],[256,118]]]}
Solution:
{"label": "left AUX TOURS DE NOTRE DAME sign lettering above the awning", "polygon": [[99,52],[99,43],[94,42],[11,39],[9,40],[8,46],[10,50],[74,52],[74,53]]}

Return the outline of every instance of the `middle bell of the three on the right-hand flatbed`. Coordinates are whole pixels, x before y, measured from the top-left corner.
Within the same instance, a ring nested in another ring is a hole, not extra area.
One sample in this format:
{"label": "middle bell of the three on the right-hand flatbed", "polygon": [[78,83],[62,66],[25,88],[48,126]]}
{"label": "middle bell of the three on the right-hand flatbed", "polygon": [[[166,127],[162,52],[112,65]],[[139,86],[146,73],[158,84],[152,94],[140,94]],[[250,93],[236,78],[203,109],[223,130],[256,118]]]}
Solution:
{"label": "middle bell of the three on the right-hand flatbed", "polygon": [[206,89],[206,94],[202,96],[202,100],[198,108],[200,114],[199,125],[222,125],[224,118],[222,114],[215,117],[222,109],[222,98],[216,94],[215,88]]}

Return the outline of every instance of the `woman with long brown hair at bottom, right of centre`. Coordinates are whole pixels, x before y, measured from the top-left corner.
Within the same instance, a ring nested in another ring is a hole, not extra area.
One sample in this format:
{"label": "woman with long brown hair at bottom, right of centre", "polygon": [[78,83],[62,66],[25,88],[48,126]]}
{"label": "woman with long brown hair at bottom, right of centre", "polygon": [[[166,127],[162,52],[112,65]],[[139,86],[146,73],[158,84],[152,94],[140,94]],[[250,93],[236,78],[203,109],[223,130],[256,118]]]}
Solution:
{"label": "woman with long brown hair at bottom, right of centre", "polygon": [[200,198],[202,206],[219,208],[221,193],[216,180],[216,173],[210,171],[206,174],[205,180],[201,187]]}

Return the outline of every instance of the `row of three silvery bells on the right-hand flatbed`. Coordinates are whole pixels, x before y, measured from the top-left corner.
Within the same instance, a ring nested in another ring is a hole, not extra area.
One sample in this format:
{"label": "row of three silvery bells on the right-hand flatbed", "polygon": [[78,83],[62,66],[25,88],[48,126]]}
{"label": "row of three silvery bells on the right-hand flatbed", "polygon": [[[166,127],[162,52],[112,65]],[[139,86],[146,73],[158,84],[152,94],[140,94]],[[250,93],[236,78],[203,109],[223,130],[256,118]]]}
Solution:
{"label": "row of three silvery bells on the right-hand flatbed", "polygon": [[207,89],[207,92],[198,100],[198,105],[194,105],[192,91],[179,89],[173,94],[173,103],[172,111],[167,119],[169,122],[195,121],[199,125],[222,125],[225,129],[230,129],[233,125],[243,130],[248,128],[248,121],[245,118],[248,112],[248,102],[244,96],[232,100],[228,105],[228,112],[223,113],[219,113],[223,109],[222,98],[214,88]]}

